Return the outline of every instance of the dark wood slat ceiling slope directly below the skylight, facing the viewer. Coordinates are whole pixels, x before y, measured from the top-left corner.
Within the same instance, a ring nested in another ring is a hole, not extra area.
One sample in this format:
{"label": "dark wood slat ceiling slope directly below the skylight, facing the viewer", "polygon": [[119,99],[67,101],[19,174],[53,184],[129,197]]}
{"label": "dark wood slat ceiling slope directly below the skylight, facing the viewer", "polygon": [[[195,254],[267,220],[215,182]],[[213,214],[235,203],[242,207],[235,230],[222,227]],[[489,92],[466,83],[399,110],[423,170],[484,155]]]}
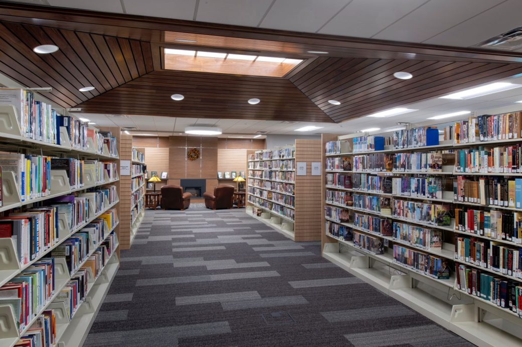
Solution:
{"label": "dark wood slat ceiling slope directly below the skylight, facing the viewer", "polygon": [[[184,100],[171,100],[174,93]],[[248,104],[253,97],[261,102]],[[203,72],[155,71],[78,107],[86,113],[331,122],[286,79]]]}

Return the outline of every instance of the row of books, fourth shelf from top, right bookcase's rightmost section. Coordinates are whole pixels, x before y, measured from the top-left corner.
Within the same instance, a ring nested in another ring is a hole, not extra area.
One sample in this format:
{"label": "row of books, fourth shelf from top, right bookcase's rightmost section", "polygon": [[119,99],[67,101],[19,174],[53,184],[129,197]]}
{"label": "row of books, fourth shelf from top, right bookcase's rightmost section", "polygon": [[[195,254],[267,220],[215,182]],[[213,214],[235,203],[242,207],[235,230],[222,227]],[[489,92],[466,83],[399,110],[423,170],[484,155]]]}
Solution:
{"label": "row of books, fourth shelf from top, right bookcase's rightmost section", "polygon": [[522,212],[455,208],[455,230],[522,243]]}

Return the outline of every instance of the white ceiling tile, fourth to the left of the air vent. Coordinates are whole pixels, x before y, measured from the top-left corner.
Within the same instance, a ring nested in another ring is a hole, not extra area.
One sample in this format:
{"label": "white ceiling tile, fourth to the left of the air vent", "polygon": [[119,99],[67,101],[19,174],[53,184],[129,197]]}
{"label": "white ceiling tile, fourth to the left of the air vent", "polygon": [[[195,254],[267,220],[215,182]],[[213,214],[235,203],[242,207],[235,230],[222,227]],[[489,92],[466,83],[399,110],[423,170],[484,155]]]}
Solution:
{"label": "white ceiling tile, fourth to the left of the air vent", "polygon": [[349,0],[277,0],[260,27],[315,32]]}

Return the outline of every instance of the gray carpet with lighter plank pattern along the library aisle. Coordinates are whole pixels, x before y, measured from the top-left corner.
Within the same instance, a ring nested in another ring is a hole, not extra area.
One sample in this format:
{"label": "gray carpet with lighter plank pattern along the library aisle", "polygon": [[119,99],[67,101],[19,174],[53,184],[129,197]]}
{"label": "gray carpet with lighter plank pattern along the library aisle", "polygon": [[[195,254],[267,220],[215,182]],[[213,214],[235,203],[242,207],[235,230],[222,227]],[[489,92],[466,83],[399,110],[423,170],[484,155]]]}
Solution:
{"label": "gray carpet with lighter plank pattern along the library aisle", "polygon": [[471,346],[244,209],[148,210],[85,346]]}

